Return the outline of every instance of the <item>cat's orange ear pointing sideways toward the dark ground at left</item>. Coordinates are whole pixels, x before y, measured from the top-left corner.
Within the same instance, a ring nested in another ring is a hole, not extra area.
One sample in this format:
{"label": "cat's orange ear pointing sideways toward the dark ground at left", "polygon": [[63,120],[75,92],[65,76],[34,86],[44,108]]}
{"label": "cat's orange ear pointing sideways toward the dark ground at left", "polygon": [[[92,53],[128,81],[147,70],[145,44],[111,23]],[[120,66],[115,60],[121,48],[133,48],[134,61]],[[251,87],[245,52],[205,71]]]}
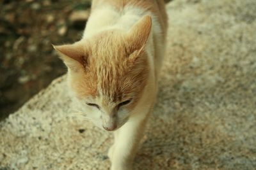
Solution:
{"label": "cat's orange ear pointing sideways toward the dark ground at left", "polygon": [[86,66],[87,57],[83,45],[81,45],[80,42],[72,45],[52,46],[59,53],[60,59],[63,60],[70,70],[77,71]]}

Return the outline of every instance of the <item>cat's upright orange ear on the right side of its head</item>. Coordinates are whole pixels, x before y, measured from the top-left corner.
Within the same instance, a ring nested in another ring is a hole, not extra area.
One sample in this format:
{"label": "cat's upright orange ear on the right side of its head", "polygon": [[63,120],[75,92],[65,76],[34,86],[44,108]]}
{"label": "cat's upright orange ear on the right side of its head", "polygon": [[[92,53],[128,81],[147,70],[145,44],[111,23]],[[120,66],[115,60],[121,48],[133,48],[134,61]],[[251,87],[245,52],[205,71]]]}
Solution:
{"label": "cat's upright orange ear on the right side of its head", "polygon": [[140,55],[145,47],[152,27],[152,19],[149,15],[144,15],[134,24],[127,34],[129,51]]}

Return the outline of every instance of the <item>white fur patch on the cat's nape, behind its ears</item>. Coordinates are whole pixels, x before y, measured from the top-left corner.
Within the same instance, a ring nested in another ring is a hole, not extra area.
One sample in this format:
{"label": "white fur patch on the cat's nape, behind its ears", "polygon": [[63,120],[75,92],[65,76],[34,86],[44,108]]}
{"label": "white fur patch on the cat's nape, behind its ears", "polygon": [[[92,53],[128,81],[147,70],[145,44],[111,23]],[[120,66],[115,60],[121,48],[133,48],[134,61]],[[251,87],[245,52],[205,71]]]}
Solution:
{"label": "white fur patch on the cat's nape, behind its ears", "polygon": [[122,11],[118,11],[112,6],[101,6],[91,13],[83,39],[109,29],[128,31],[143,15],[145,15],[145,11],[134,6],[125,6]]}

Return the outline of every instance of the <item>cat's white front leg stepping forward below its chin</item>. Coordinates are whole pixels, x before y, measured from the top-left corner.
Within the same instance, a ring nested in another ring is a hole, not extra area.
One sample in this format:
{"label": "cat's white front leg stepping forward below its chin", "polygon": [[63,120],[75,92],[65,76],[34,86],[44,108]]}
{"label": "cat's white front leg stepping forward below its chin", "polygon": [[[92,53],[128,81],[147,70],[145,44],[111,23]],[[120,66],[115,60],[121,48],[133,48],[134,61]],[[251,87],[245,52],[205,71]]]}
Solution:
{"label": "cat's white front leg stepping forward below its chin", "polygon": [[114,148],[111,148],[111,170],[131,170],[140,139],[143,136],[147,117],[134,118],[115,133]]}

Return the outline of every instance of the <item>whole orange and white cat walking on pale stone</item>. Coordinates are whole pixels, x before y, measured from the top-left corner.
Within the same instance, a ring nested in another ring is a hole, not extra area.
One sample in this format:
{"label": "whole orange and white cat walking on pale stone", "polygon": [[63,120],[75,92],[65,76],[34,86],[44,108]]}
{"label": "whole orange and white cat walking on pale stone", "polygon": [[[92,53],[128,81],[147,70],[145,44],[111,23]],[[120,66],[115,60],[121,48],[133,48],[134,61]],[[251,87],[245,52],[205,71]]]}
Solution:
{"label": "whole orange and white cat walking on pale stone", "polygon": [[94,0],[83,38],[54,46],[86,118],[114,131],[111,170],[131,170],[157,94],[167,15],[164,1]]}

